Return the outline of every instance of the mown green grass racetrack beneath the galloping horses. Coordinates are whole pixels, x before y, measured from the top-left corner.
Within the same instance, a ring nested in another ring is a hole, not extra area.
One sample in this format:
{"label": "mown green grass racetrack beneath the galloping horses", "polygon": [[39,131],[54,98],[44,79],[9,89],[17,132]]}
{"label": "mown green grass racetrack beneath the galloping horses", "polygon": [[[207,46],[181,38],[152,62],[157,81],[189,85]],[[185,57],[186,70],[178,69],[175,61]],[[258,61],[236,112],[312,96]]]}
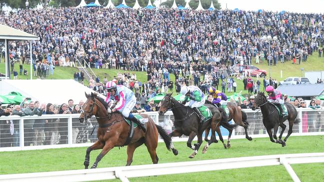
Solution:
{"label": "mown green grass racetrack beneath the galloping horses", "polygon": [[[178,156],[167,151],[164,143],[159,143],[157,155],[159,163],[185,162],[222,158],[263,156],[294,153],[324,152],[324,136],[290,137],[286,147],[271,143],[269,138],[232,140],[232,148],[226,150],[221,144],[212,144],[206,154],[201,150],[194,159],[188,156],[192,150],[185,142],[175,143]],[[0,174],[35,173],[83,169],[86,148],[65,148],[34,151],[1,152]],[[101,150],[90,153],[90,166]],[[126,165],[126,147],[112,149],[98,164],[98,168]],[[132,165],[152,164],[146,147],[142,145],[134,153]],[[323,182],[324,163],[292,165],[302,182]],[[129,179],[131,182],[292,182],[284,166],[245,168],[204,173],[164,175]],[[115,180],[118,182],[119,180]]]}

